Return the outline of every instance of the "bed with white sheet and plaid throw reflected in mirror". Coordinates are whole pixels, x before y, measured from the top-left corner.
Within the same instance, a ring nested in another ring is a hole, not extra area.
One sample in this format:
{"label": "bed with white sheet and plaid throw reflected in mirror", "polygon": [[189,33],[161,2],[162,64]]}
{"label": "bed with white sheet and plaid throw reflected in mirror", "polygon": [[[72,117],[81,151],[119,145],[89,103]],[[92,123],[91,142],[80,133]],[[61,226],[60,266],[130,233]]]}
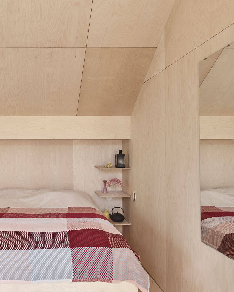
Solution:
{"label": "bed with white sheet and plaid throw reflected in mirror", "polygon": [[201,239],[234,259],[234,187],[201,190]]}

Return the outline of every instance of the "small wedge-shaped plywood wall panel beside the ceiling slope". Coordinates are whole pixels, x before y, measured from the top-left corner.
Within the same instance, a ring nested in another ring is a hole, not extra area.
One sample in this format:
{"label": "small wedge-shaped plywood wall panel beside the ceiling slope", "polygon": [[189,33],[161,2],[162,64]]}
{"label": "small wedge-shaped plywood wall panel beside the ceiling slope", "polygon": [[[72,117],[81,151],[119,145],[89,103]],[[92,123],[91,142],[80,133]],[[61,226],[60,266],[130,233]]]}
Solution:
{"label": "small wedge-shaped plywood wall panel beside the ceiling slope", "polygon": [[149,66],[144,82],[165,69],[165,34],[161,36],[154,58]]}

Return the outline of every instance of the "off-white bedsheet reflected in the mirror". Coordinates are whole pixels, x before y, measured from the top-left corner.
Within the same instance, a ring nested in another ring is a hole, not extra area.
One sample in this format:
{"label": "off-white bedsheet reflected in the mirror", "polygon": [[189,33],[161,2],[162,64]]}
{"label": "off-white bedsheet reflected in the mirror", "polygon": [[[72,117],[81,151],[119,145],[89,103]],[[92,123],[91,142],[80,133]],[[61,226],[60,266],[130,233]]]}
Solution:
{"label": "off-white bedsheet reflected in the mirror", "polygon": [[234,187],[201,190],[201,206],[234,206]]}

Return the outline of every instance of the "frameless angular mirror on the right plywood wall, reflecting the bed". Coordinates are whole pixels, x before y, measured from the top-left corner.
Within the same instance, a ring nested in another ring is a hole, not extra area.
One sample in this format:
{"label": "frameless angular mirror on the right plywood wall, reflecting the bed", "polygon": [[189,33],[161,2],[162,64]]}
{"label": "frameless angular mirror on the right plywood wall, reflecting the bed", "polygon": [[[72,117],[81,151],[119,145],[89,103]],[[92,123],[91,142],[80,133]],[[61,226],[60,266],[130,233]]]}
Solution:
{"label": "frameless angular mirror on the right plywood wall, reflecting the bed", "polygon": [[[207,133],[233,124],[234,43],[199,62],[199,115]],[[234,140],[200,137],[201,240],[234,259]]]}

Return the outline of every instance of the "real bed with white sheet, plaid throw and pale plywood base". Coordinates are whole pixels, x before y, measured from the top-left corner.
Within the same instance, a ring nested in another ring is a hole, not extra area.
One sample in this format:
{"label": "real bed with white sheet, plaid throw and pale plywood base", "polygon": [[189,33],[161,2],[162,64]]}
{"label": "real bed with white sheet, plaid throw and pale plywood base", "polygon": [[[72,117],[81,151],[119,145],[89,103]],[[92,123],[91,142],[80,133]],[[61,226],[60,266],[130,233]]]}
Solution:
{"label": "real bed with white sheet, plaid throw and pale plywood base", "polygon": [[0,190],[1,291],[149,291],[149,276],[84,192]]}

